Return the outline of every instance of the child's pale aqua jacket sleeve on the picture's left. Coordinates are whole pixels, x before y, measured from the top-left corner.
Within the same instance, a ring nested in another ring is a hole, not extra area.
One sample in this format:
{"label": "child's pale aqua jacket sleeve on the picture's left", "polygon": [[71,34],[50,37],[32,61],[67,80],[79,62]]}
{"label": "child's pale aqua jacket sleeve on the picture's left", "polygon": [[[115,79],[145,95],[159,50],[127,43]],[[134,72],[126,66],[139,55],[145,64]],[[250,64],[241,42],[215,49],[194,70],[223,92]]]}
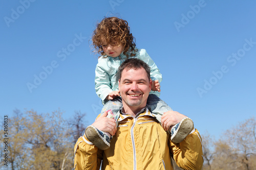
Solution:
{"label": "child's pale aqua jacket sleeve on the picture's left", "polygon": [[100,66],[100,63],[97,64],[95,69],[95,90],[101,101],[104,101],[106,96],[113,91],[110,76]]}

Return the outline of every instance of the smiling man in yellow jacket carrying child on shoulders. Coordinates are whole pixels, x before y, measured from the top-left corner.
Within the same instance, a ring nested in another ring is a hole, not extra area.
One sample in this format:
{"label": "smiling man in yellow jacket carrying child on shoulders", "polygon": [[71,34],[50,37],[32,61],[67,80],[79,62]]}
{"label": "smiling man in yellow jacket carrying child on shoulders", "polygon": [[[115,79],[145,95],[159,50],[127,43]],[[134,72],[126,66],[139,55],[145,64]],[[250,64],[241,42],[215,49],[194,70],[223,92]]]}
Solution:
{"label": "smiling man in yellow jacket carrying child on shoulders", "polygon": [[[173,143],[168,129],[184,117],[175,111],[162,116],[162,126],[146,108],[151,90],[150,68],[139,59],[127,59],[119,67],[119,90],[123,108],[118,127],[115,120],[98,116],[91,125],[114,137],[110,148],[99,150],[84,134],[75,145],[75,169],[173,169],[172,157],[183,169],[201,169],[201,136],[194,129],[182,142]],[[164,129],[163,129],[164,128]]]}

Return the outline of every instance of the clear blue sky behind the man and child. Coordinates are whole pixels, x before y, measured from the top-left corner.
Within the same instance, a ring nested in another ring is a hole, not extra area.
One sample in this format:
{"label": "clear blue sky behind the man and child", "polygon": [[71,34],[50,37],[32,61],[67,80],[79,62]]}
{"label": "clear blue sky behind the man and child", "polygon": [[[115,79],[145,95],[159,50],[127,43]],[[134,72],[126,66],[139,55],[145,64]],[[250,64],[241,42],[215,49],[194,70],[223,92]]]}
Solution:
{"label": "clear blue sky behind the man and child", "polygon": [[163,76],[161,96],[203,134],[256,115],[255,1],[1,1],[0,114],[102,107],[90,39],[104,16],[128,21]]}

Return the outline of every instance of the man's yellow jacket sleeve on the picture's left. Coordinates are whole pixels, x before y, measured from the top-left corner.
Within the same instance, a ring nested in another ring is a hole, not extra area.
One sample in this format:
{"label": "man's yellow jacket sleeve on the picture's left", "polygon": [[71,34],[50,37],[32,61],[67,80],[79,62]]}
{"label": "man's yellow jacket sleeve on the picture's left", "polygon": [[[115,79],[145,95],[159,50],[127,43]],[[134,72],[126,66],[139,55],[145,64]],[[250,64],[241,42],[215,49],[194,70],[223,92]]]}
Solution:
{"label": "man's yellow jacket sleeve on the picture's left", "polygon": [[75,170],[98,170],[100,168],[103,151],[98,150],[98,148],[86,138],[86,135],[81,136],[77,140],[74,151]]}

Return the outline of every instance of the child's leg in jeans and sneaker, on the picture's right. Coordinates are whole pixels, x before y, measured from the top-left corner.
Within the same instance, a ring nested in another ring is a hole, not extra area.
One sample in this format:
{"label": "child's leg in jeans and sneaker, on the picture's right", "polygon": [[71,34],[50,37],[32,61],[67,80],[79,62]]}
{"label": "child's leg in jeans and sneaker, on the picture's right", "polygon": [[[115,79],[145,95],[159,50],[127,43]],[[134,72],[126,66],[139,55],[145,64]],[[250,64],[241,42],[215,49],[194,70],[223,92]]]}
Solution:
{"label": "child's leg in jeans and sneaker, on the picture's right", "polygon": [[[155,94],[150,94],[147,99],[147,107],[152,114],[156,116],[158,122],[161,124],[161,117],[164,112],[172,110],[164,101],[158,98]],[[180,123],[174,125],[167,132],[170,133],[172,142],[179,143],[194,129],[193,121],[185,117]]]}

